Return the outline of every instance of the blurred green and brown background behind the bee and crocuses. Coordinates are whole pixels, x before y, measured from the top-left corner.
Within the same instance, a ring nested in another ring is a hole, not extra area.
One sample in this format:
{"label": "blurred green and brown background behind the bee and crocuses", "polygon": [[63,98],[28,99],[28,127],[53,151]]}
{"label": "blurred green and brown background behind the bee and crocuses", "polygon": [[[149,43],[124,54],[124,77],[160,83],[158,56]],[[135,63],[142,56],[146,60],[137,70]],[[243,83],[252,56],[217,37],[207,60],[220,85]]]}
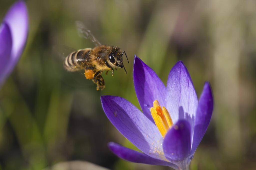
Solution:
{"label": "blurred green and brown background behind the bee and crocuses", "polygon": [[[15,1],[1,0],[0,18]],[[135,164],[112,154],[107,143],[135,148],[106,118],[101,95],[139,107],[133,55],[166,84],[182,60],[199,97],[210,81],[215,108],[191,169],[256,167],[256,1],[25,1],[29,35],[25,51],[0,89],[0,169],[44,169],[82,160],[109,169],[170,169]],[[78,36],[82,21],[102,44],[126,51],[130,64],[104,75],[106,88],[63,70],[54,44],[94,45]],[[86,169],[86,167],[85,167]]]}

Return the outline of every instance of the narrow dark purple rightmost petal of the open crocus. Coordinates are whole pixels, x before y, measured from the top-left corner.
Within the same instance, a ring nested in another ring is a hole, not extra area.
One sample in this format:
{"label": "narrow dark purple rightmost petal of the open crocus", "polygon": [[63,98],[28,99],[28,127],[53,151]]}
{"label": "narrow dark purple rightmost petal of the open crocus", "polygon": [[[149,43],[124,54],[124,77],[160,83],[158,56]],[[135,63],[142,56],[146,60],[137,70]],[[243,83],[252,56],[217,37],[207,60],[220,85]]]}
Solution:
{"label": "narrow dark purple rightmost petal of the open crocus", "polygon": [[206,82],[198,102],[191,154],[194,154],[210,123],[213,111],[213,96],[209,82]]}

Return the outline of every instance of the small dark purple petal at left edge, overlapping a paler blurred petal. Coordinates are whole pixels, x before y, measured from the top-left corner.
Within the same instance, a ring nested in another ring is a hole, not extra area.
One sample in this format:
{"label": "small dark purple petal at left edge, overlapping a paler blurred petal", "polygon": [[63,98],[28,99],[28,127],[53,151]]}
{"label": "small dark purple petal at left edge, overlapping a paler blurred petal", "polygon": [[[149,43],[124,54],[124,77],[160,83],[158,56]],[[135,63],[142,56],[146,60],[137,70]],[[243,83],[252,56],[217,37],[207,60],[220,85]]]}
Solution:
{"label": "small dark purple petal at left edge, overlapping a paler blurred petal", "polygon": [[9,26],[3,22],[0,26],[0,86],[6,78],[5,70],[12,50],[12,35]]}

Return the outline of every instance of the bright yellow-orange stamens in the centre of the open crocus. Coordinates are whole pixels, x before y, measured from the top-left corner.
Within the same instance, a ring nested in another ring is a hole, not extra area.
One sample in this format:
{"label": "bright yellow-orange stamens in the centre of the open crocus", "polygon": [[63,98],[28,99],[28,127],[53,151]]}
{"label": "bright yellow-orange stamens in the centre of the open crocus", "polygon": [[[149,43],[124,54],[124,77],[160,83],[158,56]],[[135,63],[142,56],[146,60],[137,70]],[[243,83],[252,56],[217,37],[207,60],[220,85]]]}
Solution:
{"label": "bright yellow-orange stamens in the centre of the open crocus", "polygon": [[157,100],[153,102],[153,107],[150,109],[150,112],[155,121],[156,127],[164,137],[169,128],[173,125],[169,112],[165,107],[161,108]]}

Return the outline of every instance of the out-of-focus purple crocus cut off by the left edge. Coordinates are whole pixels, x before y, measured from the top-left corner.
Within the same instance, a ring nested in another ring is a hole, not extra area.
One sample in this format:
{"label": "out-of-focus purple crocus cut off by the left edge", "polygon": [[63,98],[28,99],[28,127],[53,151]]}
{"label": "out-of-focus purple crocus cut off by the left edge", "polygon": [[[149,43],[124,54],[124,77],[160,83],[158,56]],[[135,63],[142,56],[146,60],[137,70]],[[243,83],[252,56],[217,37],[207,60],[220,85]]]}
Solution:
{"label": "out-of-focus purple crocus cut off by the left edge", "polygon": [[24,1],[14,3],[0,25],[0,87],[17,64],[28,35],[28,11]]}

